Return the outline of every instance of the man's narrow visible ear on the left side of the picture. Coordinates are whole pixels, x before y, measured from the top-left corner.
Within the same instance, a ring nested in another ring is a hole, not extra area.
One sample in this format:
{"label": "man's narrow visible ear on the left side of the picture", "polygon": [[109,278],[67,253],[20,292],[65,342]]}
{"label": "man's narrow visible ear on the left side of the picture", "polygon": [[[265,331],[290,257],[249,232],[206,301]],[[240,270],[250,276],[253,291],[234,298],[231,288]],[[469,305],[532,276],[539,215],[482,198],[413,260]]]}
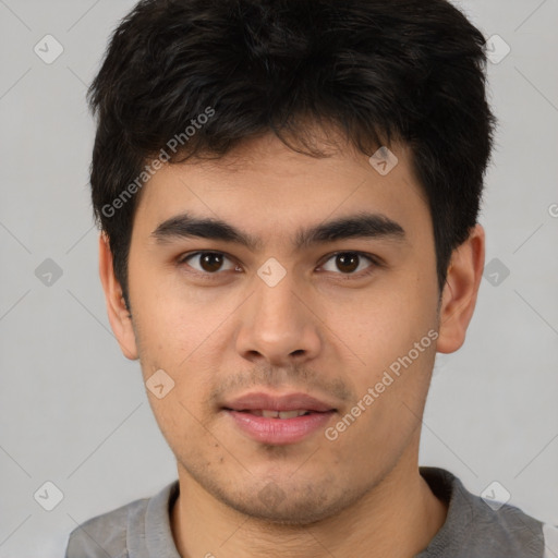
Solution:
{"label": "man's narrow visible ear on the left side of the picture", "polygon": [[120,283],[114,276],[112,252],[105,232],[99,235],[99,276],[105,291],[110,327],[124,356],[135,361],[137,359],[137,347],[132,318],[122,296]]}

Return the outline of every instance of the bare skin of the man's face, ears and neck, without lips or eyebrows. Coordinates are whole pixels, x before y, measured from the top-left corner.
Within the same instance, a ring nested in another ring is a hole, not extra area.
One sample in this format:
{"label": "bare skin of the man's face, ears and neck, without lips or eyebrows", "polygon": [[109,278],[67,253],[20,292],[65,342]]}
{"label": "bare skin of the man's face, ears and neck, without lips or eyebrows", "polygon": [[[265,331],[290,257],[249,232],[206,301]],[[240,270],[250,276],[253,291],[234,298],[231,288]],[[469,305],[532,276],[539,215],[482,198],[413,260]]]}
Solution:
{"label": "bare skin of the man's face, ears and neck, without lips or eyebrows", "polygon": [[[442,526],[447,506],[418,472],[421,418],[436,351],[457,351],[464,341],[484,230],[477,225],[453,252],[440,299],[428,207],[409,150],[392,150],[399,163],[385,177],[342,141],[319,159],[271,135],[223,159],[166,165],[136,208],[131,316],[101,234],[100,278],[122,352],[140,360],[144,380],[162,368],[174,381],[162,399],[147,395],[177,458],[171,525],[182,557],[403,558],[426,548]],[[345,239],[295,250],[300,228],[362,210],[400,223],[405,242]],[[220,218],[262,246],[251,252],[197,238],[158,243],[151,232],[183,211]],[[199,257],[178,262],[197,251],[229,259],[203,280],[211,269]],[[331,256],[339,251],[375,255],[384,266],[362,258],[347,272]],[[287,272],[272,288],[257,275],[270,257]],[[296,444],[263,445],[219,407],[253,390],[303,391],[338,409],[332,426],[429,330],[437,341],[336,440],[318,429]],[[266,487],[280,495],[272,506],[260,497]]]}

